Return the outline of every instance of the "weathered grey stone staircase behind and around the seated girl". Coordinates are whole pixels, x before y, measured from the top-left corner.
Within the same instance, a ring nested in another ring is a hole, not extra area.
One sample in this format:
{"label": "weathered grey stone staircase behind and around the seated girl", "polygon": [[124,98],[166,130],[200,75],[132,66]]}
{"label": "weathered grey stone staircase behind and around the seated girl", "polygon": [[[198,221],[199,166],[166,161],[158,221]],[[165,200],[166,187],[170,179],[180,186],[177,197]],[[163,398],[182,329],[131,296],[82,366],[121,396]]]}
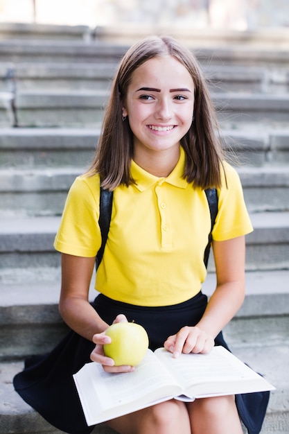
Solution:
{"label": "weathered grey stone staircase behind and around the seated girl", "polygon": [[[132,40],[128,34],[119,42],[107,29],[89,34],[85,26],[29,32],[16,26],[0,40],[0,434],[60,433],[11,381],[26,356],[49,351],[67,330],[58,314],[53,238],[69,186],[94,153],[110,80]],[[236,356],[277,387],[262,433],[289,433],[287,39],[277,50],[262,35],[258,44],[223,35],[218,48],[213,36],[211,44],[203,36],[203,44],[188,44],[209,81],[227,154],[240,160],[255,228],[247,236],[247,297],[225,337]],[[208,294],[212,263],[209,270]]]}

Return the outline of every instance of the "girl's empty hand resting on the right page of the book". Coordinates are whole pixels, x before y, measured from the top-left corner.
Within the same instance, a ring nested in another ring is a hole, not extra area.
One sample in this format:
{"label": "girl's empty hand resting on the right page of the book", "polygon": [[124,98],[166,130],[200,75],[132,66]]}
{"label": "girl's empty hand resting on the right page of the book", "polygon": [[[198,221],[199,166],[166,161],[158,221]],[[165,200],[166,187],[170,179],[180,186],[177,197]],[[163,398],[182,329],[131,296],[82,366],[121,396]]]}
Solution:
{"label": "girl's empty hand resting on the right page of the book", "polygon": [[209,353],[213,348],[214,340],[199,327],[182,327],[175,335],[169,336],[164,347],[173,353],[175,358],[185,353]]}

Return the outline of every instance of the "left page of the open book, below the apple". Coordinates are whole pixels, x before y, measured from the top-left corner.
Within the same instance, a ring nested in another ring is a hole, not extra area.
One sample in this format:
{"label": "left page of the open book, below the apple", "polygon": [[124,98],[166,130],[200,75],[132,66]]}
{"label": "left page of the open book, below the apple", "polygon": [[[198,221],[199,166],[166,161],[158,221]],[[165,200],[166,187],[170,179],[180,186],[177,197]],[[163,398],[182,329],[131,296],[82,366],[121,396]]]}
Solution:
{"label": "left page of the open book, below the apple", "polygon": [[150,350],[134,372],[107,373],[98,363],[87,363],[73,378],[87,424],[131,413],[181,392]]}

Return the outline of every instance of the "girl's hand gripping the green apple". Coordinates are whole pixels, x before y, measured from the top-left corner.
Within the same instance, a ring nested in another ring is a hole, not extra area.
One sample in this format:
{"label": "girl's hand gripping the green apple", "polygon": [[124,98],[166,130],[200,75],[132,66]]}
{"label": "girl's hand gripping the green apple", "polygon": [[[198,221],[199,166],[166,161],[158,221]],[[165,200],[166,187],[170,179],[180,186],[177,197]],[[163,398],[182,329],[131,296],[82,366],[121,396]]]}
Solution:
{"label": "girl's hand gripping the green apple", "polygon": [[[125,322],[125,321],[128,321],[128,320],[125,318],[125,315],[121,314],[121,315],[117,315],[113,324],[115,324],[116,322]],[[103,345],[104,344],[110,344],[110,342],[112,341],[110,336],[105,336],[105,331],[103,331],[103,333],[96,333],[93,336],[92,341],[96,344],[96,347],[94,348],[94,350],[90,354],[91,361],[96,362],[96,363],[100,363],[101,365],[103,365],[103,370],[105,370],[105,372],[132,372],[132,371],[134,371],[133,366],[127,366],[127,365],[114,366],[114,360],[110,357],[105,356],[105,353],[103,351]]]}

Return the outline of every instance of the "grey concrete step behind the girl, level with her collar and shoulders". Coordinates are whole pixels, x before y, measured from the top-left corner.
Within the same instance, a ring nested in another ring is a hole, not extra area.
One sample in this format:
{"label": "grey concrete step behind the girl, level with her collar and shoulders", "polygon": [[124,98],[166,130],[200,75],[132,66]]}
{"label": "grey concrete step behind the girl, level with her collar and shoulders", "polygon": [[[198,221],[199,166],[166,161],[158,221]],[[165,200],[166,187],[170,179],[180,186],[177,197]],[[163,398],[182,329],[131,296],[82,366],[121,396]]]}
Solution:
{"label": "grey concrete step behind the girl, level with her collar and shoulders", "polygon": [[[62,214],[67,192],[85,167],[1,168],[0,216]],[[250,212],[289,210],[289,165],[241,166],[237,171]]]}

